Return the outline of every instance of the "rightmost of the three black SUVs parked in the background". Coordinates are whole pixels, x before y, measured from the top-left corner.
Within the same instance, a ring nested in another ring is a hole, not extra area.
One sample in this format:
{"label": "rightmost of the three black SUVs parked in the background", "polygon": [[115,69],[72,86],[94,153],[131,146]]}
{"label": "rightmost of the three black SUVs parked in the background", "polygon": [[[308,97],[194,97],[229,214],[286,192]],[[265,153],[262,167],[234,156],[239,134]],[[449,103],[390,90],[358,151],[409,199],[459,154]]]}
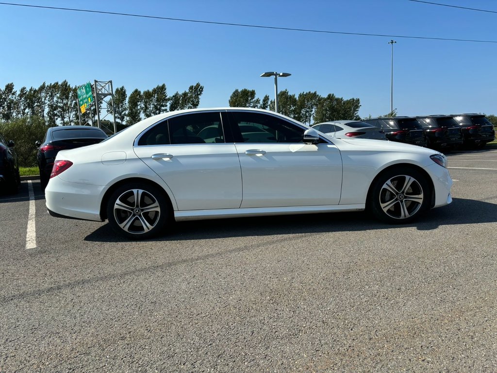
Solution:
{"label": "rightmost of the three black SUVs parked in the background", "polygon": [[483,114],[451,114],[451,116],[461,127],[466,146],[483,148],[485,144],[496,138],[494,125]]}

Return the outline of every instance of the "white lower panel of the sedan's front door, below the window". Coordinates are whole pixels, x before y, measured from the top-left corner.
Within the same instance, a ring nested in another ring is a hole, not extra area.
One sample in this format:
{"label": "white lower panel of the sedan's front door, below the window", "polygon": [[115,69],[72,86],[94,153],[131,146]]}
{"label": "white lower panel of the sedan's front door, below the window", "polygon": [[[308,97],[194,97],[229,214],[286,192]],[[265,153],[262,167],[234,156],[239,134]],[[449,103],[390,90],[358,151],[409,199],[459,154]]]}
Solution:
{"label": "white lower panel of the sedan's front door, below the window", "polygon": [[[241,207],[334,205],[342,165],[331,144],[237,143],[243,174]],[[246,154],[261,150],[265,154]]]}

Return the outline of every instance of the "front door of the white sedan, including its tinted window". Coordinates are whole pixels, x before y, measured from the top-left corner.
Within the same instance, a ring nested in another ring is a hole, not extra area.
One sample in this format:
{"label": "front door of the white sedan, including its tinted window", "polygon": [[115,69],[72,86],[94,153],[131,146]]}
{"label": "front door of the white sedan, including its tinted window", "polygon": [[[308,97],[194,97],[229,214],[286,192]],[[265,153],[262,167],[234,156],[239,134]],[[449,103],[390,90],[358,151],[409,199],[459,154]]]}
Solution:
{"label": "front door of the white sedan, including its tinted window", "polygon": [[241,207],[339,203],[342,163],[336,146],[304,144],[305,128],[277,115],[235,110],[228,115],[242,167]]}

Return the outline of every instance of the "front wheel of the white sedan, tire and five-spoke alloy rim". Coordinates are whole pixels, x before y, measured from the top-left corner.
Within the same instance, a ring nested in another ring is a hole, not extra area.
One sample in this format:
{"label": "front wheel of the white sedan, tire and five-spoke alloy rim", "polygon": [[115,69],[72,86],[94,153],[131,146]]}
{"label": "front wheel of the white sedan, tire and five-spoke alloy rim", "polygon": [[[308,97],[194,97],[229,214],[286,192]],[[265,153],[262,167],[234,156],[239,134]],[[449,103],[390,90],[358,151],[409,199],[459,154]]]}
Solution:
{"label": "front wheel of the white sedan, tire and five-spoke alloy rim", "polygon": [[431,188],[426,176],[414,169],[395,168],[375,180],[367,207],[384,222],[405,224],[422,215],[430,203]]}

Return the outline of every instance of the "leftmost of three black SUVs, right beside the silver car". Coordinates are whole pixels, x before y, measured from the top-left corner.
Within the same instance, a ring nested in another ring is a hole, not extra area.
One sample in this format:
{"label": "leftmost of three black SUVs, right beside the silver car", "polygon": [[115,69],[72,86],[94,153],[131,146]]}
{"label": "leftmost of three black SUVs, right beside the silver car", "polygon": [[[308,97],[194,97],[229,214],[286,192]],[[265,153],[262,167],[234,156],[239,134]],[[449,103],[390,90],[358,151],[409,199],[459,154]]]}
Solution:
{"label": "leftmost of three black SUVs, right beside the silver car", "polygon": [[363,122],[382,128],[387,140],[426,146],[424,129],[415,118],[392,116],[364,119]]}

